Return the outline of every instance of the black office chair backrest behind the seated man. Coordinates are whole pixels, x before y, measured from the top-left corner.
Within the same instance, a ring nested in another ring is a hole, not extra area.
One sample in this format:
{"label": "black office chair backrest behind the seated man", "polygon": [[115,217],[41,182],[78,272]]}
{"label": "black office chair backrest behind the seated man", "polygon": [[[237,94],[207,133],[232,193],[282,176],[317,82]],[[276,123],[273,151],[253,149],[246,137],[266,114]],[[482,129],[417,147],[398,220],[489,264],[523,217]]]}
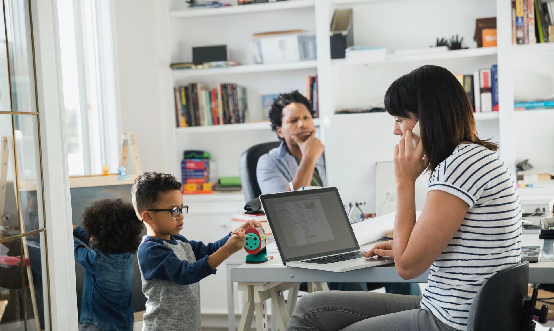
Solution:
{"label": "black office chair backrest behind the seated man", "polygon": [[280,141],[264,142],[263,144],[250,147],[240,155],[240,185],[242,186],[244,198],[247,202],[253,198],[259,197],[261,194],[260,186],[258,186],[258,179],[256,178],[256,165],[258,165],[258,159],[271,149],[279,147],[280,144]]}

